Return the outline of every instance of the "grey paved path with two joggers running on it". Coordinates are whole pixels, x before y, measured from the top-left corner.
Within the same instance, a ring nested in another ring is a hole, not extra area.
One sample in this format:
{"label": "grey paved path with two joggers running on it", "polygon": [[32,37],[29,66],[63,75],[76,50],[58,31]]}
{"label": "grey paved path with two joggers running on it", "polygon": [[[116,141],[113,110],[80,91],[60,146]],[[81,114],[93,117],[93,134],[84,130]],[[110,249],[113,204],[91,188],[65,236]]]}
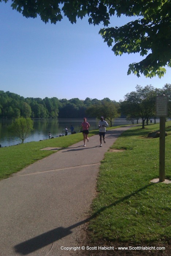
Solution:
{"label": "grey paved path with two joggers running on it", "polygon": [[67,256],[61,246],[83,246],[100,161],[128,128],[107,131],[103,147],[95,135],[0,181],[0,255]]}

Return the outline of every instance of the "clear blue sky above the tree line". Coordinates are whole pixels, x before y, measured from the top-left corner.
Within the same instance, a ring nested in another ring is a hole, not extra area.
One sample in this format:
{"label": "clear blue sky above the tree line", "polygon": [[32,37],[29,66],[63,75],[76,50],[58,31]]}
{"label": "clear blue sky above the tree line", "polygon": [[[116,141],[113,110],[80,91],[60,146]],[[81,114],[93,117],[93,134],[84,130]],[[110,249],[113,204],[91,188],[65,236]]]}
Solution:
{"label": "clear blue sky above the tree line", "polygon": [[[87,18],[72,25],[64,18],[56,25],[38,17],[27,19],[0,3],[0,90],[20,96],[58,99],[110,98],[119,101],[136,85],[162,88],[171,83],[171,68],[163,78],[127,75],[139,54],[115,56],[98,34],[103,26]],[[130,18],[113,18],[122,26]],[[162,50],[162,46],[161,46]]]}

